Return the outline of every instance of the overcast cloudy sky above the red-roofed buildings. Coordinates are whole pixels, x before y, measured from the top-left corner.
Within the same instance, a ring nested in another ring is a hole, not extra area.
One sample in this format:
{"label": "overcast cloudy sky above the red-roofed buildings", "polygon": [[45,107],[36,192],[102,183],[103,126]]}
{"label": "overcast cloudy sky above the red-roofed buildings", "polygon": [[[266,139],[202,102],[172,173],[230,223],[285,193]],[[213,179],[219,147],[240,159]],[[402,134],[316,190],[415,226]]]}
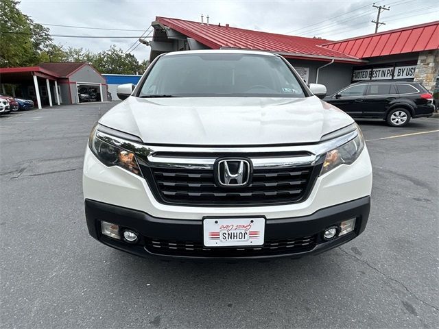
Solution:
{"label": "overcast cloudy sky above the red-roofed buildings", "polygon": [[[155,16],[167,16],[200,21],[209,14],[211,23],[229,23],[232,27],[256,29],[264,32],[298,36],[320,36],[341,40],[374,32],[370,23],[377,17],[377,9],[370,0],[353,1],[141,1],[141,0],[23,0],[20,8],[41,24],[75,25],[108,29],[136,29],[110,31],[47,26],[51,34],[76,36],[141,36]],[[438,19],[438,0],[386,0],[377,5],[390,6],[381,13],[379,32]],[[151,28],[150,28],[151,29]],[[90,39],[54,37],[56,43],[83,47],[91,51],[117,45],[124,51],[136,41],[134,38]],[[139,45],[133,52],[139,60],[149,58],[150,49]]]}

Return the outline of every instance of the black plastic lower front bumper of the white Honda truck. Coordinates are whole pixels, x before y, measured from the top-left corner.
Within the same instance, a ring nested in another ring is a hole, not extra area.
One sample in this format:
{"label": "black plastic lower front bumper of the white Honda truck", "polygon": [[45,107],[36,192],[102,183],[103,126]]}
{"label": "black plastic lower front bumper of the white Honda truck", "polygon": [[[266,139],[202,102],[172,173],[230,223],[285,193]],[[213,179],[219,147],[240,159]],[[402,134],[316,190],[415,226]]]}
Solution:
{"label": "black plastic lower front bumper of the white Honda truck", "polygon": [[[176,258],[273,258],[300,257],[324,252],[342,245],[361,234],[366,228],[370,197],[337,204],[302,217],[266,219],[265,244],[262,247],[207,248],[203,246],[202,220],[165,219],[139,210],[85,200],[88,232],[98,241],[116,249],[147,256]],[[236,216],[235,216],[236,217]],[[331,241],[322,239],[322,231],[346,219],[356,219],[355,230]],[[133,245],[111,239],[101,233],[100,221],[115,223],[139,233],[139,243]]]}

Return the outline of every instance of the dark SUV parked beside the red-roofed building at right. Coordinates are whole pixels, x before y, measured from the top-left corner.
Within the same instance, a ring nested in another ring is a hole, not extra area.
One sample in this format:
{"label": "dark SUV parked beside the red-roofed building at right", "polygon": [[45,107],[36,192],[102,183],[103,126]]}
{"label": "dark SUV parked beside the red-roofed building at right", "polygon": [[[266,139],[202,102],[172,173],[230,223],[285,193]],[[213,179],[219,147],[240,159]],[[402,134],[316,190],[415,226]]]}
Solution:
{"label": "dark SUV parked beside the red-roofed building at right", "polygon": [[431,117],[434,112],[433,95],[416,82],[357,82],[324,101],[353,118],[384,119],[393,127],[403,127],[412,118]]}

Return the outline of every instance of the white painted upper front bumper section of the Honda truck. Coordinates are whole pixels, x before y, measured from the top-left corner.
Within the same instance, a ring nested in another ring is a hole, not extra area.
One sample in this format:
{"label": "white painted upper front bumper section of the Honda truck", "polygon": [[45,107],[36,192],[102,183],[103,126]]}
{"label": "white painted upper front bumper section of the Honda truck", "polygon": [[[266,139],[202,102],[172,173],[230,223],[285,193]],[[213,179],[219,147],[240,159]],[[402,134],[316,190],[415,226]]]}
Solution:
{"label": "white painted upper front bumper section of the Honda truck", "polygon": [[303,202],[274,206],[174,206],[161,204],[145,178],[121,167],[106,167],[86,147],[84,199],[145,212],[152,217],[198,221],[209,217],[261,216],[266,219],[305,217],[320,209],[370,195],[372,165],[365,147],[351,165],[342,164],[317,178]]}

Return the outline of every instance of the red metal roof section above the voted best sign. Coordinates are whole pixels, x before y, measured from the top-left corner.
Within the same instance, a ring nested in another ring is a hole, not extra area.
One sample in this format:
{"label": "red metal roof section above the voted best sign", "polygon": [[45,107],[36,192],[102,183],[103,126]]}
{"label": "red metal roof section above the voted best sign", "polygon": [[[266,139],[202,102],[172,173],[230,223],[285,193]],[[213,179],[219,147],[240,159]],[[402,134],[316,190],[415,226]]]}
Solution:
{"label": "red metal roof section above the voted best sign", "polygon": [[328,42],[323,46],[357,58],[439,49],[439,21]]}

